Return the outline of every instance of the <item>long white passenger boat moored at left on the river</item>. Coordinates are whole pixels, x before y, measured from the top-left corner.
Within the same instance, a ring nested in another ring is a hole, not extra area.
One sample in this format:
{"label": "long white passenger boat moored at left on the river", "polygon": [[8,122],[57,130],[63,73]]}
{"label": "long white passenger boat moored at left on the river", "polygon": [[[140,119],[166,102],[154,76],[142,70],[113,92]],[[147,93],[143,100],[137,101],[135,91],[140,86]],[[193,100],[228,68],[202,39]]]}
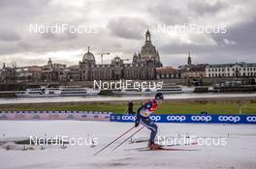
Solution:
{"label": "long white passenger boat moored at left on the river", "polygon": [[99,90],[81,87],[59,87],[59,88],[29,88],[24,93],[16,93],[18,98],[42,98],[42,97],[72,97],[98,95]]}

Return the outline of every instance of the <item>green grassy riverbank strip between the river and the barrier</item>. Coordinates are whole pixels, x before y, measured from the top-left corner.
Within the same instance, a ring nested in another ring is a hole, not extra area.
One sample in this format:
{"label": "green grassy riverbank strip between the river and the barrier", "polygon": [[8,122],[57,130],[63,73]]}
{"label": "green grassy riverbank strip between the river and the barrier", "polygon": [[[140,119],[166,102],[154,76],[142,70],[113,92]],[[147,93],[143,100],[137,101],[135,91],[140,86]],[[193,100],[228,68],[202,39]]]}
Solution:
{"label": "green grassy riverbank strip between the river and the barrier", "polygon": [[[134,101],[134,111],[144,100]],[[240,102],[240,103],[239,103]],[[8,103],[0,104],[0,110],[86,110],[124,113],[126,100]],[[210,98],[210,99],[167,99],[159,106],[158,114],[256,114],[256,98]]]}

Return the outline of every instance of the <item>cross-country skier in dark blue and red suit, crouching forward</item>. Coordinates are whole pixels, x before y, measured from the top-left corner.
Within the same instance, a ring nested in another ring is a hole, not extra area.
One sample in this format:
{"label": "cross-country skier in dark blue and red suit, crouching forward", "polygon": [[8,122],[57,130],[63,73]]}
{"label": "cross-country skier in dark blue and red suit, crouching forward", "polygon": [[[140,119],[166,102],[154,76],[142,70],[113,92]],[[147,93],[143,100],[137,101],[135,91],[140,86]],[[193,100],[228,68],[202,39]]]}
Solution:
{"label": "cross-country skier in dark blue and red suit, crouching forward", "polygon": [[154,139],[157,133],[157,126],[149,119],[150,114],[152,114],[157,105],[162,103],[164,96],[162,93],[157,93],[155,99],[146,101],[140,108],[138,108],[136,113],[135,127],[139,127],[140,124],[144,125],[151,130],[150,138],[148,140],[148,148],[150,150],[159,149],[160,146],[154,143]]}

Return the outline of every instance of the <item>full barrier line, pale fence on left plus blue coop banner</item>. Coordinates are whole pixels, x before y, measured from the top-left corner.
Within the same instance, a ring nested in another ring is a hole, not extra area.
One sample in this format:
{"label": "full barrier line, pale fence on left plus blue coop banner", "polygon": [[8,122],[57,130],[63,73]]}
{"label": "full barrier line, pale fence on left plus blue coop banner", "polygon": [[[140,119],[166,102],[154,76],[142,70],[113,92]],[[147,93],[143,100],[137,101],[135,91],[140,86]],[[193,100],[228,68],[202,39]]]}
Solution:
{"label": "full barrier line, pale fence on left plus blue coop banner", "polygon": [[[134,115],[97,111],[0,111],[0,120],[79,120],[135,122]],[[156,123],[256,124],[255,115],[182,115],[157,114],[150,119]]]}

